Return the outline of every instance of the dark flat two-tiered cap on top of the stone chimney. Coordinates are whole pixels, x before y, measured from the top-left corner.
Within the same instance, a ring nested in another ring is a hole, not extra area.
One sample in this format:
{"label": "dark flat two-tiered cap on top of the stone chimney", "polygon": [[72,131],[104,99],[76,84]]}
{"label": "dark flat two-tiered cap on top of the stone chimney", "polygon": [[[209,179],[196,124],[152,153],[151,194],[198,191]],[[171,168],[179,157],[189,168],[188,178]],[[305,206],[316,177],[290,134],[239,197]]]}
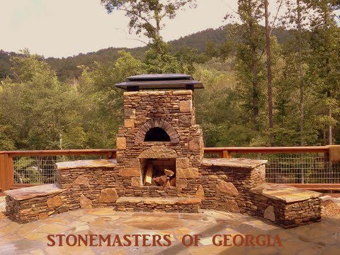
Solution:
{"label": "dark flat two-tiered cap on top of the stone chimney", "polygon": [[127,91],[140,89],[204,89],[200,81],[188,74],[140,74],[128,77],[115,87]]}

